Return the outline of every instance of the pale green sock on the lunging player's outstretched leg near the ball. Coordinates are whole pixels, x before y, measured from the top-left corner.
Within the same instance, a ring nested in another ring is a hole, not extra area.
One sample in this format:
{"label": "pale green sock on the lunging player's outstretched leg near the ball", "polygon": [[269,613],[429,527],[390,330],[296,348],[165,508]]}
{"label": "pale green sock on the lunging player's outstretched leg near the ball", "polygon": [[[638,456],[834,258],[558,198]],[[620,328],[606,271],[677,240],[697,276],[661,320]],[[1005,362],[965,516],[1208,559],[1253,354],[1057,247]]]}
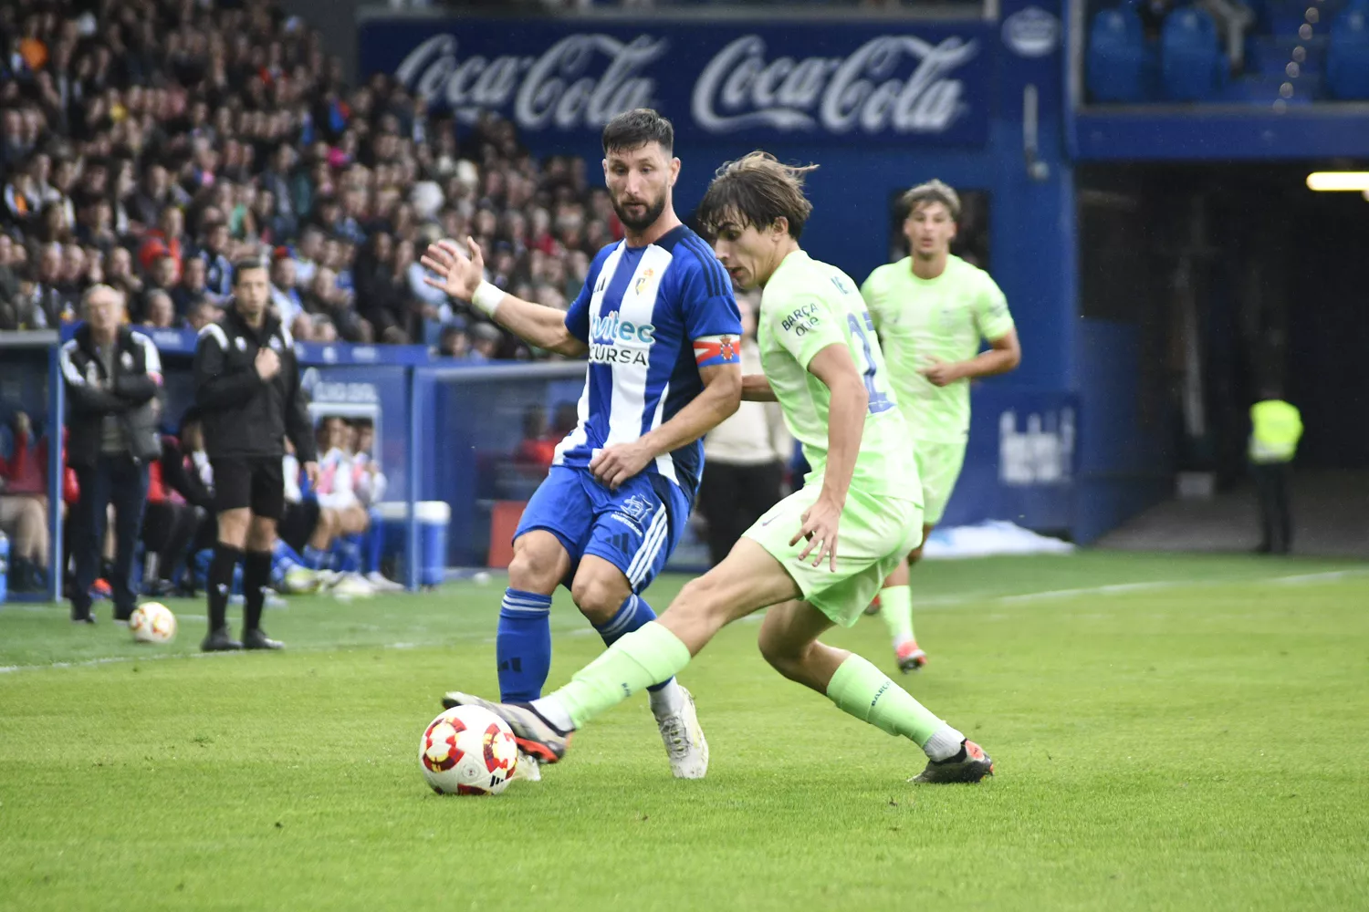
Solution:
{"label": "pale green sock on the lunging player's outstretched leg near the ball", "polygon": [[615,643],[552,695],[575,727],[689,665],[689,647],[656,621]]}

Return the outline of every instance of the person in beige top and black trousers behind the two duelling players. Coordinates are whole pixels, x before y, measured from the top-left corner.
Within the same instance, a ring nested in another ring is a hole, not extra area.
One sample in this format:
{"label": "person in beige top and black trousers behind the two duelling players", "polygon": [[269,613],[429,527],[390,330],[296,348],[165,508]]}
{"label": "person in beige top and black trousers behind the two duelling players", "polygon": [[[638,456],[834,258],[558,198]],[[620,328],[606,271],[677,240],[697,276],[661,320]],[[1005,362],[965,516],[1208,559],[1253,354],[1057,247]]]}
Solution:
{"label": "person in beige top and black trousers behind the two duelling players", "polygon": [[[761,373],[756,342],[760,295],[738,295],[737,306],[742,313],[742,373]],[[783,496],[784,462],[793,446],[775,402],[742,402],[704,438],[698,502],[708,520],[708,552],[715,565]]]}

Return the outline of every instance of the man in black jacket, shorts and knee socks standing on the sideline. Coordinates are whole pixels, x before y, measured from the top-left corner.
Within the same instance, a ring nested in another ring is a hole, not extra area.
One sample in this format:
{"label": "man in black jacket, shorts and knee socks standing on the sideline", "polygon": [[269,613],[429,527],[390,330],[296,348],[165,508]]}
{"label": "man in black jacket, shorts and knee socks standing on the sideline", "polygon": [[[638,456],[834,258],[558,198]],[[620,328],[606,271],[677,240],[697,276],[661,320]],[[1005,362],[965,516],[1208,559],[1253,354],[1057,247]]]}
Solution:
{"label": "man in black jacket, shorts and knee socks standing on the sideline", "polygon": [[[209,634],[200,645],[205,652],[282,648],[261,630],[261,607],[271,581],[275,525],[285,509],[285,438],[294,444],[311,484],[319,473],[294,340],[267,309],[270,299],[266,264],[240,261],[233,269],[231,304],[218,323],[200,330],[194,349],[194,401],[204,417],[204,448],[214,468],[219,515],[207,585]],[[227,625],[238,561],[241,643]]]}

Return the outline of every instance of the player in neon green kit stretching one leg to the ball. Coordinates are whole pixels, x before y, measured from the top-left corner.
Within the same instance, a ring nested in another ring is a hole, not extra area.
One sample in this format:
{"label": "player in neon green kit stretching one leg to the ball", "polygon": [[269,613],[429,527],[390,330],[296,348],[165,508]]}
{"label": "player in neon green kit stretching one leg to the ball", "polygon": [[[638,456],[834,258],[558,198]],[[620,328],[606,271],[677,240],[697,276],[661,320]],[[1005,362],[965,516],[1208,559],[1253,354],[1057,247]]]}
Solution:
{"label": "player in neon green kit stretching one leg to the ball", "polygon": [[[724,625],[769,607],[761,655],[786,678],[921,747],[920,782],[977,782],[994,770],[973,741],[868,660],[819,641],[854,623],[921,536],[921,485],[908,428],[856,283],[798,246],[812,205],[804,174],[764,152],[723,165],[698,217],[742,289],[764,289],[764,373],[742,398],[778,401],[812,472],[763,515],[727,558],[691,580],[653,622],[628,633],[560,690],[531,703],[452,692],[445,706],[483,706],[519,745],[560,760],[571,733],[632,693],[680,671]],[[705,469],[706,470],[706,469]]]}

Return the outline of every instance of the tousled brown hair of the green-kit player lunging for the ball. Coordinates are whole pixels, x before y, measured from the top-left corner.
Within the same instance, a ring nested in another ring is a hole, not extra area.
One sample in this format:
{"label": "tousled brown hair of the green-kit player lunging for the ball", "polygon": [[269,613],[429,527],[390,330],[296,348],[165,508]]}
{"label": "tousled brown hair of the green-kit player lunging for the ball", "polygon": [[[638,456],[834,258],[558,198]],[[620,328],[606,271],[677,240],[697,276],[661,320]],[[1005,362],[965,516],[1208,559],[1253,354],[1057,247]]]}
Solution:
{"label": "tousled brown hair of the green-kit player lunging for the ball", "polygon": [[804,196],[804,176],[815,168],[782,164],[769,152],[745,155],[717,170],[695,217],[705,234],[717,235],[719,227],[730,222],[764,230],[783,216],[789,237],[798,241],[813,213],[813,204]]}

